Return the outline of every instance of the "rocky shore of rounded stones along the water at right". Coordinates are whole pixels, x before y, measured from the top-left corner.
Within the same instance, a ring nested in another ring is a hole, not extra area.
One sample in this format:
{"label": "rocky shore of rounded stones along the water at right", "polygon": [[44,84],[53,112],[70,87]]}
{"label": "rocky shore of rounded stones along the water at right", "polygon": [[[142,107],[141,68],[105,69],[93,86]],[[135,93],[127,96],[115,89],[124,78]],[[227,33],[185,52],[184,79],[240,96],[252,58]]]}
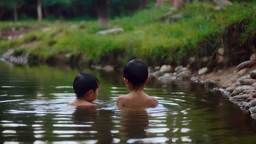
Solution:
{"label": "rocky shore of rounded stones along the water at right", "polygon": [[162,65],[151,68],[150,75],[165,82],[190,79],[219,90],[256,119],[256,53],[251,55],[249,61],[216,72],[209,72],[207,67],[195,71],[189,66],[174,68],[171,65]]}

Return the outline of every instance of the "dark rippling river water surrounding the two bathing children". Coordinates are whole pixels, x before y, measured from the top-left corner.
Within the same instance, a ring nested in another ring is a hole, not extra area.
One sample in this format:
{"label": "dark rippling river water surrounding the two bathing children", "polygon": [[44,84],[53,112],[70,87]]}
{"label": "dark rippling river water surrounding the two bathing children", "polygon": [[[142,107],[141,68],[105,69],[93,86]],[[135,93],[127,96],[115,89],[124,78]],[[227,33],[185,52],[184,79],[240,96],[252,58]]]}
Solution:
{"label": "dark rippling river water surrounding the two bathing children", "polygon": [[151,78],[159,106],[121,111],[122,73],[83,71],[101,81],[99,108],[67,105],[78,70],[0,61],[0,144],[256,144],[256,120],[219,92]]}

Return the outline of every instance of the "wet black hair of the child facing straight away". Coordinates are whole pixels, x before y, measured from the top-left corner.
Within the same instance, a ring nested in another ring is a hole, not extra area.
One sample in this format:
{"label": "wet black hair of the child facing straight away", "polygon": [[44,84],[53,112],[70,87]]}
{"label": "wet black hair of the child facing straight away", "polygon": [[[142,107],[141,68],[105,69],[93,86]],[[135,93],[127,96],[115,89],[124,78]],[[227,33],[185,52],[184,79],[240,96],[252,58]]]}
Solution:
{"label": "wet black hair of the child facing straight away", "polygon": [[123,76],[132,83],[133,90],[137,91],[147,80],[147,66],[142,61],[131,60],[125,65]]}

